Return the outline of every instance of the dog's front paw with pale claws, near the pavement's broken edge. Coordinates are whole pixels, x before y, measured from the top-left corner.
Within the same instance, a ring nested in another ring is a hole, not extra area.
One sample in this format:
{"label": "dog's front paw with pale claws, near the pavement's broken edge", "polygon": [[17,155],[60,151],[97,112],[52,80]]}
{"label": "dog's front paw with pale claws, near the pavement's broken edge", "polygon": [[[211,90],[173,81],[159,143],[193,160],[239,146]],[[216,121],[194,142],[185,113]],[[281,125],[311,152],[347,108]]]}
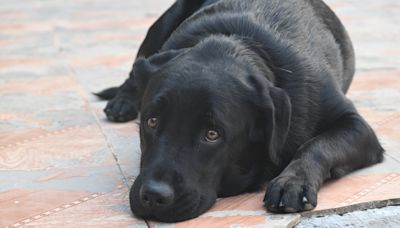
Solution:
{"label": "dog's front paw with pale claws, near the pavement's broken edge", "polygon": [[308,211],[317,205],[317,192],[304,177],[278,176],[267,186],[264,206],[270,212]]}

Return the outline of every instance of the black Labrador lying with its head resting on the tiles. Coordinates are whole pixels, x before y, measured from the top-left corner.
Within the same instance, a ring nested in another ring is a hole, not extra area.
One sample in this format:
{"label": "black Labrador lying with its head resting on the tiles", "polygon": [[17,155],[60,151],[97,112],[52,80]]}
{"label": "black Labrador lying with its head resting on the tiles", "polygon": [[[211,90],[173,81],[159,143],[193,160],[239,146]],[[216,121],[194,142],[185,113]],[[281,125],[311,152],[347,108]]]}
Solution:
{"label": "black Labrador lying with its head resting on the tiles", "polygon": [[325,180],[383,158],[344,95],[354,62],[320,0],[177,0],[98,94],[111,121],[141,113],[133,213],[185,220],[267,181],[269,211],[313,209]]}

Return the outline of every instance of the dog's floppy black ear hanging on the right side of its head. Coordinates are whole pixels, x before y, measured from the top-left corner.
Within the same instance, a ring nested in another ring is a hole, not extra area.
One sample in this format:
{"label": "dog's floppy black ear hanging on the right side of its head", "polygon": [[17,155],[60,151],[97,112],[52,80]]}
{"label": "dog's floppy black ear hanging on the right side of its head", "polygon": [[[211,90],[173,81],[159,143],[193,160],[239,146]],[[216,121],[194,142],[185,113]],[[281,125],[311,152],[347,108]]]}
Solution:
{"label": "dog's floppy black ear hanging on the right side of its head", "polygon": [[269,87],[264,97],[265,139],[271,161],[279,165],[279,152],[289,133],[291,104],[289,96],[280,88]]}

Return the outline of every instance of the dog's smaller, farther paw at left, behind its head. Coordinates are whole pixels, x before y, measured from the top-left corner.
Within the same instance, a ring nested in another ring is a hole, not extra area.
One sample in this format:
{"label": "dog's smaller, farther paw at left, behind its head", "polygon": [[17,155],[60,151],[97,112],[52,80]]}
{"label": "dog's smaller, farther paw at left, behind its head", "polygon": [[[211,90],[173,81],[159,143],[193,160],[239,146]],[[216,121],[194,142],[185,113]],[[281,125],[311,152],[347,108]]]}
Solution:
{"label": "dog's smaller, farther paw at left, behind its head", "polygon": [[104,108],[107,119],[113,122],[126,122],[136,119],[138,110],[134,101],[125,97],[115,97]]}

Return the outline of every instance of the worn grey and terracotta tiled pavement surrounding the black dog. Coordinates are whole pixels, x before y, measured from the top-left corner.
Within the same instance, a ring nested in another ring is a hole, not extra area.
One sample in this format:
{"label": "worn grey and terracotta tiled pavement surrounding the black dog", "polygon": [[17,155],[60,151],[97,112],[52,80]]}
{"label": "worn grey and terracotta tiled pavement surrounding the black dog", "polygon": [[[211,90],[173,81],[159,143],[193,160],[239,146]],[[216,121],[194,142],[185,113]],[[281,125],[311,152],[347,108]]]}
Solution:
{"label": "worn grey and terracotta tiled pavement surrounding the black dog", "polygon": [[[109,123],[91,92],[127,77],[147,28],[171,0],[2,0],[0,227],[145,227],[128,190],[138,174],[133,122]],[[385,162],[326,184],[318,208],[344,212],[400,202],[400,2],[329,0],[357,54],[349,96],[387,150]],[[220,199],[206,214],[153,227],[290,226],[263,193]],[[393,200],[389,200],[393,199]]]}

